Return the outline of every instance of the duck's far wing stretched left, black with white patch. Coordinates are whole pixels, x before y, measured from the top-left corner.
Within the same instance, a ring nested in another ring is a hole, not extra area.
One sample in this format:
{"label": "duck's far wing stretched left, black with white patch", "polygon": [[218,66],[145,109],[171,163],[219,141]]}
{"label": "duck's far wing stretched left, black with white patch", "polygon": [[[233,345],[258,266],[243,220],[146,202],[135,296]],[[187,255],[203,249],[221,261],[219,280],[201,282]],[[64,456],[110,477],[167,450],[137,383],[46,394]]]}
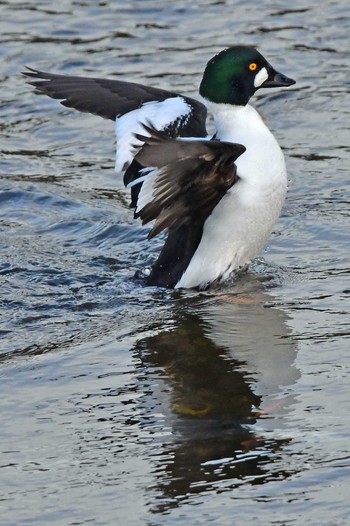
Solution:
{"label": "duck's far wing stretched left, black with white patch", "polygon": [[[57,75],[32,68],[23,74],[38,93],[60,100],[63,106],[116,122],[117,172],[124,172],[132,163],[132,142],[134,134],[142,131],[142,123],[151,121],[171,136],[206,136],[206,107],[190,97],[122,80]],[[137,176],[137,168],[133,167],[132,175],[129,172],[126,183]]]}

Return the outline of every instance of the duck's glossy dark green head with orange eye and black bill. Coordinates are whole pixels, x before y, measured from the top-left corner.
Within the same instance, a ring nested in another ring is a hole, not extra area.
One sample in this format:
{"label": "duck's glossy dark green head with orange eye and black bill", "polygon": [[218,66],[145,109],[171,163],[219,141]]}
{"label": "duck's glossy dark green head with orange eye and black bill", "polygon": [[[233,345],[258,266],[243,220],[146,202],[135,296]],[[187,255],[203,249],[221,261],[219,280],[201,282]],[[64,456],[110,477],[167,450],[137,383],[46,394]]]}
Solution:
{"label": "duck's glossy dark green head with orange eye and black bill", "polygon": [[234,46],[209,60],[199,92],[210,102],[245,106],[259,88],[292,84],[295,80],[276,71],[255,48]]}

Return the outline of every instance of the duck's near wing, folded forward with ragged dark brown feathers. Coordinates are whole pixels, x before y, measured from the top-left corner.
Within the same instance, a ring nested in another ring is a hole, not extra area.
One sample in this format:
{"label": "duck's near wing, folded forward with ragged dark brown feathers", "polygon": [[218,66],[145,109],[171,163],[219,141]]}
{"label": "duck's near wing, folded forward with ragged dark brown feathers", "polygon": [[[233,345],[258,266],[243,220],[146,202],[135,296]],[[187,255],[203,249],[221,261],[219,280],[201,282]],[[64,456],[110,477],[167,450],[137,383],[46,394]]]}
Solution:
{"label": "duck's near wing, folded forward with ragged dark brown feathers", "polygon": [[[184,224],[204,224],[214,207],[237,181],[235,160],[245,151],[241,144],[216,140],[173,139],[152,126],[135,160],[143,175],[129,184],[142,184],[136,214],[143,224],[156,220],[149,234]],[[149,167],[149,168],[147,168]]]}

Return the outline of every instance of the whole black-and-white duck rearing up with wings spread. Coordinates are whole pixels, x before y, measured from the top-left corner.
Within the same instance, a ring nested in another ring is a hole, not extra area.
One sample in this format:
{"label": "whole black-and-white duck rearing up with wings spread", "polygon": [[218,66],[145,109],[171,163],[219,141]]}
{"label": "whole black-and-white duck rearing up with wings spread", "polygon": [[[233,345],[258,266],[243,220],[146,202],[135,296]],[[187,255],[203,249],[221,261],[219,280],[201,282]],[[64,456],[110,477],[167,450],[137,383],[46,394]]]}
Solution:
{"label": "whole black-and-white duck rearing up with wings spread", "polygon": [[[289,87],[252,46],[209,60],[200,100],[118,79],[23,72],[36,92],[115,123],[115,170],[130,189],[134,217],[165,242],[146,285],[208,289],[258,255],[287,193],[283,152],[249,104],[261,88]],[[211,114],[215,133],[208,134]]]}

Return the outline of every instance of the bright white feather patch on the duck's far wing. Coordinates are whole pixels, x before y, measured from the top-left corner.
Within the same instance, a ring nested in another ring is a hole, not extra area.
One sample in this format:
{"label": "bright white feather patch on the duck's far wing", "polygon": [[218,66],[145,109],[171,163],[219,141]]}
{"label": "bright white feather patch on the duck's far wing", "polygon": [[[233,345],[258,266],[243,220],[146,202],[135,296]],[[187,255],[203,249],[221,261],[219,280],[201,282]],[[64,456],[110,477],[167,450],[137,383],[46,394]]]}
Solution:
{"label": "bright white feather patch on the duck's far wing", "polygon": [[177,119],[189,117],[191,106],[182,97],[172,97],[162,102],[146,102],[137,110],[129,111],[115,122],[117,152],[115,171],[124,171],[135,155],[134,146],[141,146],[134,133],[147,135],[142,123],[151,123],[157,130],[163,130]]}

